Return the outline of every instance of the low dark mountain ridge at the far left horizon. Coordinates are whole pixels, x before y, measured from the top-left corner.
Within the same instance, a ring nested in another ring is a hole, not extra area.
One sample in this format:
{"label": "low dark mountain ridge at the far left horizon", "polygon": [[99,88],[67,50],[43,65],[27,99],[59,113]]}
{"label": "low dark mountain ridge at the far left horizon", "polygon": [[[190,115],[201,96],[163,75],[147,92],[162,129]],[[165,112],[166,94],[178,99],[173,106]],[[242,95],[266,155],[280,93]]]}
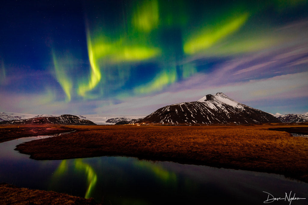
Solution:
{"label": "low dark mountain ridge at the far left horizon", "polygon": [[39,116],[25,120],[2,121],[0,124],[95,124],[90,120],[80,119],[75,115]]}

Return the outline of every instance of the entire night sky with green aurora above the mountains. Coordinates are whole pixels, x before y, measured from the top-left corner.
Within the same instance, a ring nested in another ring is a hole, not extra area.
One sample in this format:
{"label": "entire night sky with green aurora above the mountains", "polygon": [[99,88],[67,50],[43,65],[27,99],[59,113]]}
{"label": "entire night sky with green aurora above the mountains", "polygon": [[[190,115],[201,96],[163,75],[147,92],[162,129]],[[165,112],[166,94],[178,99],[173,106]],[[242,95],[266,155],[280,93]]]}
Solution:
{"label": "entire night sky with green aurora above the mountains", "polygon": [[308,111],[308,1],[6,1],[0,111],[148,115],[222,92]]}

